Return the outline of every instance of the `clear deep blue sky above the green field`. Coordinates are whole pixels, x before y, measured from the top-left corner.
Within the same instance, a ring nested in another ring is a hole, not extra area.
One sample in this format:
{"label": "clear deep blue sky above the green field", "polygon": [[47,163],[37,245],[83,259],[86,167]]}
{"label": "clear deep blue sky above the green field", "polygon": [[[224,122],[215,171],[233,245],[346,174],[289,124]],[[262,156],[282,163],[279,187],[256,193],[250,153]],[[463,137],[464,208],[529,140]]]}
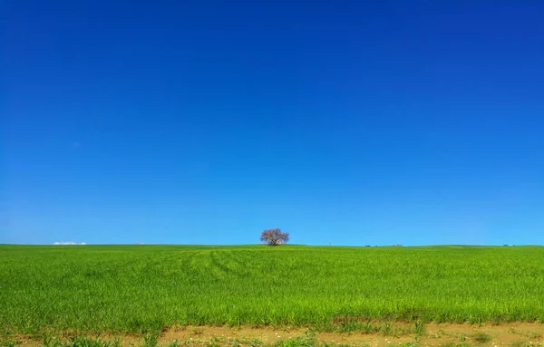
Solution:
{"label": "clear deep blue sky above the green field", "polygon": [[0,6],[0,243],[544,244],[543,2]]}

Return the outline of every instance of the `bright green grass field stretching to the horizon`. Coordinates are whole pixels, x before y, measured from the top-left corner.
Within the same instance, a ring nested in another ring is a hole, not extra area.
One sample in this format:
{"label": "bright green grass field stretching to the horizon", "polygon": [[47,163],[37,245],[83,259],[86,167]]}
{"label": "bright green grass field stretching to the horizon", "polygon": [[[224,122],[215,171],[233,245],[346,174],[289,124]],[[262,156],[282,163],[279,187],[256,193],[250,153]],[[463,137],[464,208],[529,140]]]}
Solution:
{"label": "bright green grass field stretching to the horizon", "polygon": [[0,245],[0,329],[543,322],[543,259],[539,246]]}

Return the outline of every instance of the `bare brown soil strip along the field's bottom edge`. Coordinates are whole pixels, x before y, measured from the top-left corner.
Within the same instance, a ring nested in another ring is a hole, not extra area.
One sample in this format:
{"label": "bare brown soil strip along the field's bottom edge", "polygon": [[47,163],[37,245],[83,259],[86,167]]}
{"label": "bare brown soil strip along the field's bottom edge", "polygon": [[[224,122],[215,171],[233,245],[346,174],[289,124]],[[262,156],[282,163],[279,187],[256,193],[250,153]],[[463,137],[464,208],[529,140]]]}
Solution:
{"label": "bare brown soil strip along the field's bottom edge", "polygon": [[[307,329],[295,328],[250,328],[227,326],[185,326],[171,328],[160,334],[159,345],[168,346],[170,342],[177,341],[180,344],[207,345],[207,342],[215,342],[222,346],[233,346],[235,342],[241,346],[257,346],[261,344],[273,344],[280,340],[306,336]],[[477,333],[485,333],[491,336],[489,342],[475,340]],[[519,346],[519,343],[544,343],[544,324],[542,323],[508,323],[508,324],[452,324],[452,323],[427,323],[424,331],[419,336],[413,332],[413,324],[393,323],[390,333],[316,333],[318,342],[343,345],[370,345],[371,347],[397,346],[401,343],[414,342],[419,346],[442,346],[450,343],[455,345],[466,343],[471,346],[495,347],[495,346]],[[102,334],[102,339],[113,337],[121,338],[122,344],[128,347],[139,346],[143,342],[141,337],[135,335],[109,335]],[[16,341],[24,345],[37,346],[41,341],[29,337],[18,336]]]}

